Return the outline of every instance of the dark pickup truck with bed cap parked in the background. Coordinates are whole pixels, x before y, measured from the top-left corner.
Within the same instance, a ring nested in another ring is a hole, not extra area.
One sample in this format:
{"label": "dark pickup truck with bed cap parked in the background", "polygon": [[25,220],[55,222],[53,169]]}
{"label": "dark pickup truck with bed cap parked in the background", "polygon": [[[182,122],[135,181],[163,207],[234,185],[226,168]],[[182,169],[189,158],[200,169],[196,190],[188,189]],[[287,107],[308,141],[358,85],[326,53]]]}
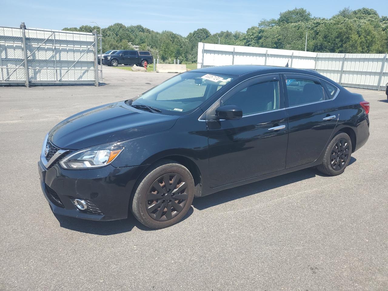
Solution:
{"label": "dark pickup truck with bed cap parked in the background", "polygon": [[[147,55],[145,53],[148,53]],[[137,50],[118,50],[111,55],[104,55],[102,59],[103,65],[116,67],[123,65],[144,66],[144,62],[151,64],[154,61],[150,52],[139,52]]]}

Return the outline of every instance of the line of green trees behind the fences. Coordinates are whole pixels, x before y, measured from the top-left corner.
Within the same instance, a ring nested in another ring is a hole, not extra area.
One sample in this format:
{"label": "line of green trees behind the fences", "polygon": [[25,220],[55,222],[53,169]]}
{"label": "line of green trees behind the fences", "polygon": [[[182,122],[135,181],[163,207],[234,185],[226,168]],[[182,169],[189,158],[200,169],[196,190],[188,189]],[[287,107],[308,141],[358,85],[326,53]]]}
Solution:
{"label": "line of green trees behind the fences", "polygon": [[[99,31],[97,26],[82,25],[64,28],[68,31]],[[142,50],[151,50],[154,57],[165,62],[180,59],[196,62],[198,42],[247,45],[275,49],[307,50],[338,53],[386,53],[388,51],[388,17],[374,9],[345,7],[331,18],[312,17],[303,8],[287,10],[278,19],[262,19],[257,26],[240,31],[220,31],[211,34],[199,28],[186,37],[172,31],[157,32],[141,25],[112,24],[102,29],[103,50],[132,49],[133,43]]]}

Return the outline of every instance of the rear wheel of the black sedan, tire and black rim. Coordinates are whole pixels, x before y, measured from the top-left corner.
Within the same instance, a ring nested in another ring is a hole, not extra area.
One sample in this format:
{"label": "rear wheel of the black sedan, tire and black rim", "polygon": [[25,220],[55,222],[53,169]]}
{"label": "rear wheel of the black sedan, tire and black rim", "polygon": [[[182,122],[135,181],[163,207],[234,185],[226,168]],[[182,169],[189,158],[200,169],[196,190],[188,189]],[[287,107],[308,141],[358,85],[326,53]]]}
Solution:
{"label": "rear wheel of the black sedan, tire and black rim", "polygon": [[317,169],[326,175],[336,176],[345,171],[352,155],[352,140],[345,132],[333,137],[327,146],[322,164]]}

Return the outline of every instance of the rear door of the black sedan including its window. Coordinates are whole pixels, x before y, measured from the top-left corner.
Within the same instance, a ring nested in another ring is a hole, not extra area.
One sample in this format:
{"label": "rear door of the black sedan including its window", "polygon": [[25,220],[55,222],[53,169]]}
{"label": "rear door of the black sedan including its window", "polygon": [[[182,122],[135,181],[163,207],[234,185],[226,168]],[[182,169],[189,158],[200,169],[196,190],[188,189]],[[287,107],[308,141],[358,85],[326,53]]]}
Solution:
{"label": "rear door of the black sedan including its window", "polygon": [[314,162],[326,148],[338,122],[338,108],[319,78],[284,74],[288,113],[286,168]]}

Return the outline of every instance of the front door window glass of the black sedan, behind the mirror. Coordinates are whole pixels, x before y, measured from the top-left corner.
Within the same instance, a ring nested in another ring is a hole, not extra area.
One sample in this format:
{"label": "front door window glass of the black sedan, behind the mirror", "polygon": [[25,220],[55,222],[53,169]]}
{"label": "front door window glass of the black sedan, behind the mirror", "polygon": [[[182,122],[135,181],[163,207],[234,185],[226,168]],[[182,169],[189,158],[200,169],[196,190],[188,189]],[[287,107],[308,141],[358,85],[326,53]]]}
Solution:
{"label": "front door window glass of the black sedan, behind the mirror", "polygon": [[266,81],[243,88],[222,105],[236,105],[242,115],[279,109],[279,81]]}

